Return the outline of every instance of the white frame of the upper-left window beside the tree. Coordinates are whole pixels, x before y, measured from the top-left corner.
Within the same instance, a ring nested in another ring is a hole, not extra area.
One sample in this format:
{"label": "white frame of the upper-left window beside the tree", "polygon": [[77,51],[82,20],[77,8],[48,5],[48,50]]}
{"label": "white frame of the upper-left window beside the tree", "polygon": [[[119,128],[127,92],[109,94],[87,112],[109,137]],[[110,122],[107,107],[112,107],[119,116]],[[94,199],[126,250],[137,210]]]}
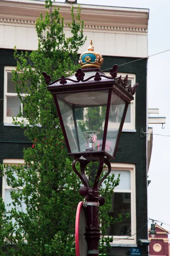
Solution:
{"label": "white frame of the upper-left window beside the tree", "polygon": [[[16,93],[8,93],[7,92],[7,82],[8,82],[8,72],[11,72],[12,70],[16,70],[15,66],[5,66],[4,67],[4,101],[3,101],[3,123],[4,125],[13,125],[13,118],[12,116],[7,116],[7,97],[8,96],[17,96]],[[26,96],[27,94],[23,93],[22,97]],[[23,111],[23,103],[21,103],[21,110]],[[15,119],[15,117],[14,117]],[[23,118],[17,118],[18,121],[22,121]]]}

